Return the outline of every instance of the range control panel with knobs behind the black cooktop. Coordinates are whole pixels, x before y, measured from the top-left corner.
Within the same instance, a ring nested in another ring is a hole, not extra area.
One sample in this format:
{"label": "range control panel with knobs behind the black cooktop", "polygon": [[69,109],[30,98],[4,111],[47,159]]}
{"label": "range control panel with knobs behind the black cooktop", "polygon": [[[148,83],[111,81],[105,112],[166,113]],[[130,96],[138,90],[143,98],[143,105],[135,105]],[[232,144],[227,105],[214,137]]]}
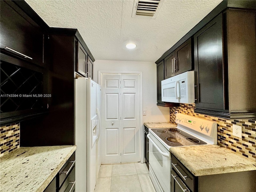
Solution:
{"label": "range control panel with knobs behind the black cooktop", "polygon": [[210,137],[217,130],[216,122],[181,113],[176,114],[175,122]]}

